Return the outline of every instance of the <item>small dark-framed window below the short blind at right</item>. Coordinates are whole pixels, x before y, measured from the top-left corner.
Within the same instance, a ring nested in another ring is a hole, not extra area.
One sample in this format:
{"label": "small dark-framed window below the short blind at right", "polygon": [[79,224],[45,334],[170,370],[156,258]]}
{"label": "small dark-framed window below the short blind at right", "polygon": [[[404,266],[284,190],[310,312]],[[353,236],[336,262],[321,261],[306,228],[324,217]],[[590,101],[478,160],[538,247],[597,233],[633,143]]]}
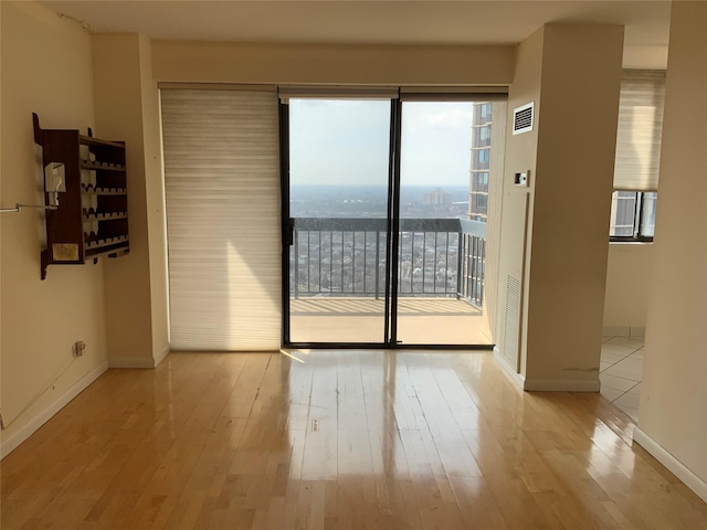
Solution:
{"label": "small dark-framed window below the short blind at right", "polygon": [[611,197],[610,241],[653,241],[655,191],[614,191]]}

